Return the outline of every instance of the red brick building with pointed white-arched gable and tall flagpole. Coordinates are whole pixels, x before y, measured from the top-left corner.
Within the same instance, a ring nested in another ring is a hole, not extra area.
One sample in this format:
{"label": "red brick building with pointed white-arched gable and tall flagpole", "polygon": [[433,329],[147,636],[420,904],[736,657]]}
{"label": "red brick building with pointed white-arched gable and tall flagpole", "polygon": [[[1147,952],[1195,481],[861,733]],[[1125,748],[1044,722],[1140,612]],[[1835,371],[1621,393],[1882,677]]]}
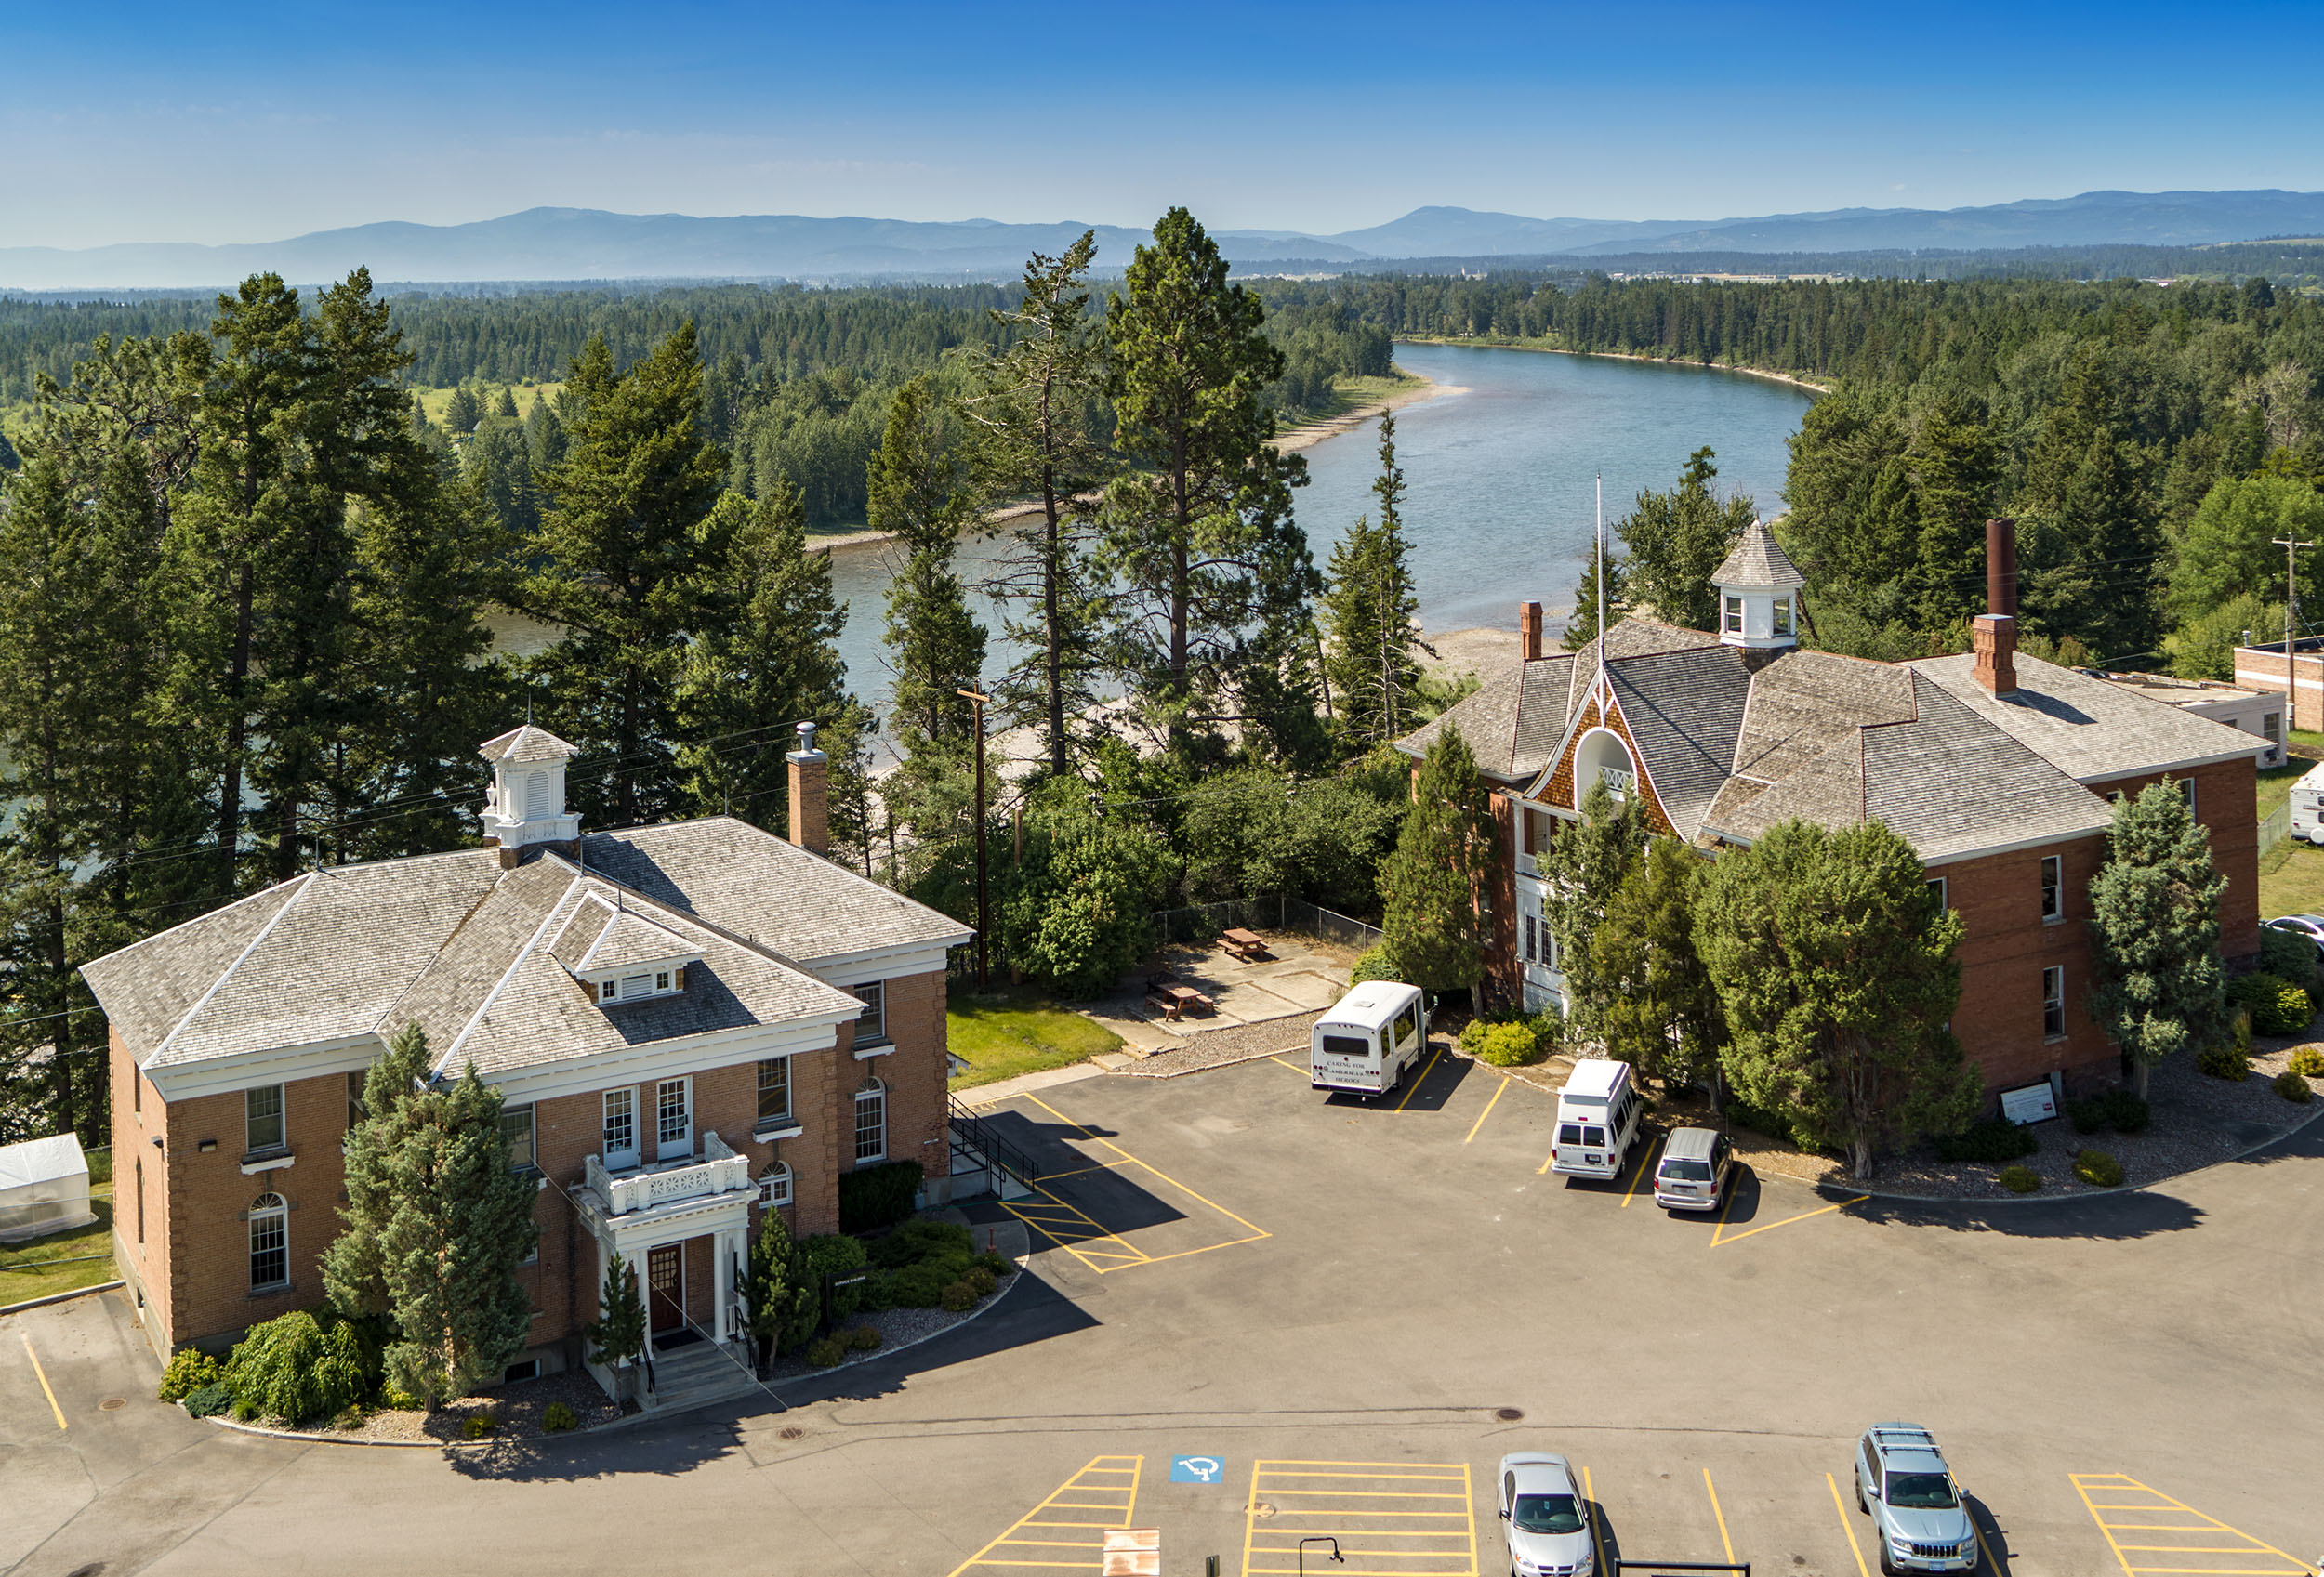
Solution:
{"label": "red brick building with pointed white-arched gable and tall flagpole", "polygon": [[1987,1092],[2115,1075],[2117,1050],[2087,1010],[2082,929],[2113,797],[2166,776],[2187,785],[2226,876],[2222,950],[2254,957],[2254,757],[2271,741],[2020,655],[2013,527],[1996,520],[1989,534],[1994,613],[1954,657],[1799,650],[1806,581],[1757,523],[1713,576],[1717,634],[1629,618],[1583,650],[1548,653],[1541,604],[1522,604],[1520,660],[1401,741],[1422,755],[1457,729],[1492,783],[1511,855],[1487,950],[1499,992],[1564,1003],[1536,857],[1592,783],[1638,794],[1655,834],[1706,850],[1794,818],[1901,834],[1961,915],[1952,1029]]}

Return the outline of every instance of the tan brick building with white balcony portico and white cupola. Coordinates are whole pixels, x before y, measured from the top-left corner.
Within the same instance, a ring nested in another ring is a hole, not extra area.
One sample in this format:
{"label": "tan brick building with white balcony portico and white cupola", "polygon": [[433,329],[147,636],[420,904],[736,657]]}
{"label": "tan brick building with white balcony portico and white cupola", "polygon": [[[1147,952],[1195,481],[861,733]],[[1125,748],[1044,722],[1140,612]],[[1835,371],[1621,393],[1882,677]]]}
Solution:
{"label": "tan brick building with white balcony portico and white cupola", "polygon": [[788,843],[730,818],[583,834],[572,746],[528,725],[483,755],[483,848],[311,871],[86,966],[114,1254],[158,1352],[321,1301],[342,1138],[404,1024],[439,1075],[500,1089],[539,1180],[521,1373],[581,1361],[609,1256],[658,1347],[716,1347],[741,1335],[762,1210],[834,1231],[855,1166],[948,1178],[944,962],[967,929],[823,857],[811,739]]}

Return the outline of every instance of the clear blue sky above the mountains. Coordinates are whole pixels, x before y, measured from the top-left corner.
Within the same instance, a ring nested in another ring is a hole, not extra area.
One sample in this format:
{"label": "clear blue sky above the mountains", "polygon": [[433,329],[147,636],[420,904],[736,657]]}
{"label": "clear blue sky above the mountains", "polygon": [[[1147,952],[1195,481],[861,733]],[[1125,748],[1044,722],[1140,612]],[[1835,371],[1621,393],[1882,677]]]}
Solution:
{"label": "clear blue sky above the mountains", "polygon": [[0,246],[535,204],[1334,232],[2324,188],[2324,7],[0,0]]}

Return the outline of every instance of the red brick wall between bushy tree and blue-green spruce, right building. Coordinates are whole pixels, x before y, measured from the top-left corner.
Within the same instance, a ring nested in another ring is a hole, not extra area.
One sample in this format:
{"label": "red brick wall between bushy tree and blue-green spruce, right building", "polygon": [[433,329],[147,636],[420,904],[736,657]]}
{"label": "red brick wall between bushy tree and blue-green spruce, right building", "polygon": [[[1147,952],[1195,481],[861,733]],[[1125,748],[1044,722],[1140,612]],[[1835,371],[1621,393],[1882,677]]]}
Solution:
{"label": "red brick wall between bushy tree and blue-green spruce, right building", "polygon": [[[2040,862],[2059,859],[2057,922],[2040,917]],[[2115,1078],[2119,1054],[2089,1017],[2089,878],[2099,873],[2106,841],[2073,843],[1959,859],[1931,869],[1945,878],[1945,901],[1961,917],[1961,1006],[1952,1034],[1985,1073],[1985,1089],[2013,1089],[2066,1075],[2071,1089]],[[2045,1040],[2040,975],[2066,971],[2066,1038]]]}

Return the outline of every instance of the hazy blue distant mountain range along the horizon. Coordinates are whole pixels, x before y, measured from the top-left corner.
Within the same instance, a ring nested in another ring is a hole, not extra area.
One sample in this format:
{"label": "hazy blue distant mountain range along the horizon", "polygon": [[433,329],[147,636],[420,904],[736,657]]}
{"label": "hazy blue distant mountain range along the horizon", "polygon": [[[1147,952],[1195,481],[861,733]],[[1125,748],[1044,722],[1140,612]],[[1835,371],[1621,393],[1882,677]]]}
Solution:
{"label": "hazy blue distant mountain range along the horizon", "polygon": [[[990,279],[1030,251],[1097,230],[1099,265],[1148,239],[1122,225],[1004,225],[990,218],[806,218],[525,209],[467,225],[379,223],[286,242],[132,242],[67,251],[0,246],[0,288],[156,290],[223,286],[272,269],[318,281],[367,265],[379,281],[558,279]],[[2324,193],[2082,193],[1973,209],[1829,209],[1759,218],[1525,218],[1427,207],[1369,230],[1222,230],[1239,265],[1373,265],[1397,258],[1571,258],[1638,253],[1843,253],[2015,246],[2208,246],[2324,235]]]}

